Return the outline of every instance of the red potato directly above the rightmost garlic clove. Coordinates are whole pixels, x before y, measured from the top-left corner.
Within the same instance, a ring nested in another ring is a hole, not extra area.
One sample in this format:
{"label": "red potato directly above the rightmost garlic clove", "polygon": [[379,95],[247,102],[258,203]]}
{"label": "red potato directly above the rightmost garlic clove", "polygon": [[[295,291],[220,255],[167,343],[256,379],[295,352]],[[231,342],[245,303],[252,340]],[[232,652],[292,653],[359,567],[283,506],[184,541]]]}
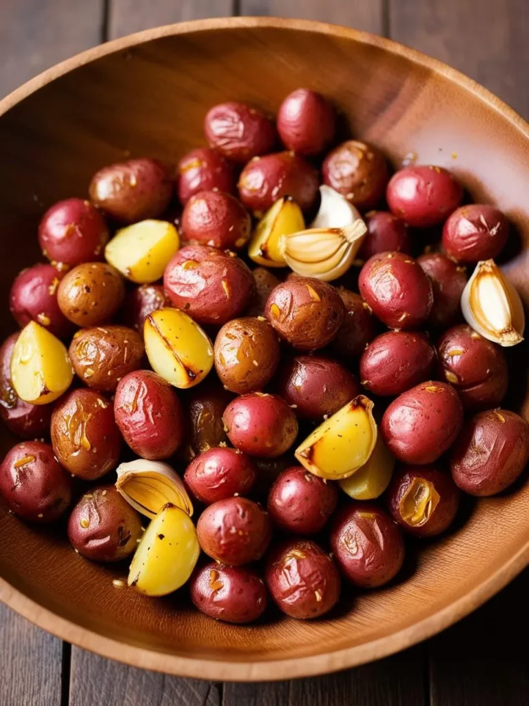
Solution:
{"label": "red potato directly above the rightmost garlic clove", "polygon": [[509,221],[499,208],[486,203],[461,206],[443,226],[443,248],[457,263],[492,260],[509,238]]}

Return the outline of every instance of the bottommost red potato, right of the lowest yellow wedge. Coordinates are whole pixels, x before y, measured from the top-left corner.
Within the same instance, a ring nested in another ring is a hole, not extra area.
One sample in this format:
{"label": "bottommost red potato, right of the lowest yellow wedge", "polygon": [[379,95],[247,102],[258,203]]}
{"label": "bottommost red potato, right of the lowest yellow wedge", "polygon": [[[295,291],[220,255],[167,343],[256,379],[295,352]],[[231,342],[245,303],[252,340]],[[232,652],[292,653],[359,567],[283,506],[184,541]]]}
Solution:
{"label": "bottommost red potato, right of the lowest yellow wedge", "polygon": [[268,604],[267,587],[255,571],[214,561],[195,570],[190,592],[195,608],[225,623],[253,623]]}

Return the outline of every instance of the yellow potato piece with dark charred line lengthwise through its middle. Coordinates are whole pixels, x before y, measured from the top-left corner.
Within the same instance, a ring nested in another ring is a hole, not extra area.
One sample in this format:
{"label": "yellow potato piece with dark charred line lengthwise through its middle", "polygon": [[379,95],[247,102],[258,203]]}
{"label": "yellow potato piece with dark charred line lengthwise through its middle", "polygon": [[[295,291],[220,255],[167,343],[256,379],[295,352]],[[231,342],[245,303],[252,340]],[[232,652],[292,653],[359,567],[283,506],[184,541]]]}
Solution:
{"label": "yellow potato piece with dark charred line lengthwise through its middle", "polygon": [[176,388],[198,385],[213,366],[213,346],[180,309],[159,309],[145,319],[145,350],[152,369]]}

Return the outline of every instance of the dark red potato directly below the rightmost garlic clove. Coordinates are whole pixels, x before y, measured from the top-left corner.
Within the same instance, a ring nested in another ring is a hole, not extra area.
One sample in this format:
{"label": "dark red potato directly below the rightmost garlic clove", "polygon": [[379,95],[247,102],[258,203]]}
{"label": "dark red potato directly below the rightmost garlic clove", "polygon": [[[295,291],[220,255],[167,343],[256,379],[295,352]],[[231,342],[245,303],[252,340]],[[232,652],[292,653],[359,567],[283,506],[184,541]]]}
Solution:
{"label": "dark red potato directly below the rightmost garlic clove", "polygon": [[439,376],[454,385],[467,411],[497,407],[506,395],[509,369],[501,347],[465,324],[437,344]]}

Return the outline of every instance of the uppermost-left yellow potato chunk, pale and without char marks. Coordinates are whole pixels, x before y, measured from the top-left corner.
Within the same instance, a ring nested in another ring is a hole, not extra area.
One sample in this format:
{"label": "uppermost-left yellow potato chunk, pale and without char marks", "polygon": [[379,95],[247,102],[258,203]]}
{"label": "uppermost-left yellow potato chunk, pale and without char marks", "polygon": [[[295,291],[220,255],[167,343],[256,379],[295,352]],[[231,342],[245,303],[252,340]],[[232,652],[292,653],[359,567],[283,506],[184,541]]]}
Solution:
{"label": "uppermost-left yellow potato chunk, pale and without char marks", "polygon": [[118,230],[105,248],[104,256],[123,277],[145,285],[163,276],[179,247],[180,238],[174,225],[145,220]]}

